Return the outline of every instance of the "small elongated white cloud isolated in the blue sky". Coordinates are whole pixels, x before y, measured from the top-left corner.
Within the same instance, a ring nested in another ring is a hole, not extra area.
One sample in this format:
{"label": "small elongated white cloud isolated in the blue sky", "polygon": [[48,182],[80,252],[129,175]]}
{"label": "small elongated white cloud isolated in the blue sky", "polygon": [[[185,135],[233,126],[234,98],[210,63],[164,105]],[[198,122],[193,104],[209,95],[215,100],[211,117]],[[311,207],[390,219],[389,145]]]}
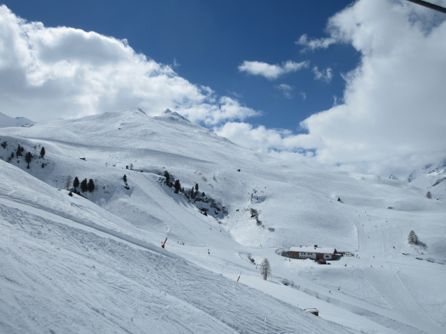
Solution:
{"label": "small elongated white cloud isolated in the blue sky", "polygon": [[238,66],[240,72],[247,72],[252,75],[260,75],[266,79],[277,79],[278,77],[289,73],[296,72],[302,68],[309,67],[309,61],[302,61],[295,63],[294,61],[286,61],[282,65],[270,65],[261,61],[243,61],[242,65]]}

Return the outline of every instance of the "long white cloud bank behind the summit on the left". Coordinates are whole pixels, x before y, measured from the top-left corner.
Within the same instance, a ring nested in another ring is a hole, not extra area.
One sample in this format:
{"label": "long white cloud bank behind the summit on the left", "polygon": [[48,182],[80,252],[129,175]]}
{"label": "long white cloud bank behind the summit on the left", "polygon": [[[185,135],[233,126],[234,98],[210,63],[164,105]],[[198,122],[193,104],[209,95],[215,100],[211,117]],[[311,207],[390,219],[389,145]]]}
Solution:
{"label": "long white cloud bank behind the summit on the left", "polygon": [[210,125],[259,115],[137,54],[126,40],[47,28],[6,6],[0,6],[0,100],[6,113],[35,121],[136,106],[153,115],[169,108]]}

